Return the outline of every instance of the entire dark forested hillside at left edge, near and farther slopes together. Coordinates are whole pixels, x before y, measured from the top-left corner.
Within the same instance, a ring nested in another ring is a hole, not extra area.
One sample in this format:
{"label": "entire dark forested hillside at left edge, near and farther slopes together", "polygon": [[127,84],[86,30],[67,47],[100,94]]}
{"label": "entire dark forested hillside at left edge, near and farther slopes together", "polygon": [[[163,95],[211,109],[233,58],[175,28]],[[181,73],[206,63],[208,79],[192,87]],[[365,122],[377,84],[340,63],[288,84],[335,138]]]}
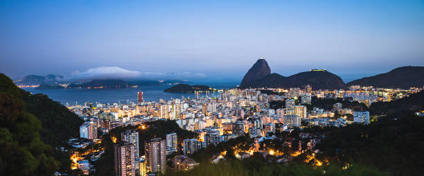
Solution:
{"label": "entire dark forested hillside at left edge, near and farther slopes together", "polygon": [[19,89],[0,73],[0,175],[53,175],[70,169],[55,150],[78,137],[82,120],[43,94]]}

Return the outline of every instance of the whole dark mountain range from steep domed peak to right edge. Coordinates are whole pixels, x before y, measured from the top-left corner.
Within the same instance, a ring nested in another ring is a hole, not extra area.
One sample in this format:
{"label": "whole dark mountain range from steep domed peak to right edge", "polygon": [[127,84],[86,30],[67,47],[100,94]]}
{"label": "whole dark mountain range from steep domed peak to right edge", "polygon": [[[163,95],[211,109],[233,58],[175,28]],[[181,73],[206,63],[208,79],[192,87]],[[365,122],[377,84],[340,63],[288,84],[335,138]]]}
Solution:
{"label": "whole dark mountain range from steep domed peak to right edge", "polygon": [[261,58],[247,71],[240,88],[288,89],[290,87],[302,88],[306,85],[310,85],[312,89],[344,89],[350,85],[401,89],[423,87],[424,67],[399,67],[388,73],[353,80],[346,85],[339,76],[325,69],[312,69],[288,77],[281,76],[279,73],[271,73],[268,63]]}

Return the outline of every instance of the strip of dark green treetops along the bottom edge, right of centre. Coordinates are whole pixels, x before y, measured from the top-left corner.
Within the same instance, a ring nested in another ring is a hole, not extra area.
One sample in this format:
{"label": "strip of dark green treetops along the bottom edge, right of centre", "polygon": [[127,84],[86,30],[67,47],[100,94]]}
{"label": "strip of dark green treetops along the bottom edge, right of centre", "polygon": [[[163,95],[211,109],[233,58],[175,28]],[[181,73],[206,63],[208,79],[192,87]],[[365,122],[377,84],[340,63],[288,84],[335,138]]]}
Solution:
{"label": "strip of dark green treetops along the bottom edge, right of centre", "polygon": [[175,173],[167,170],[165,175],[174,176],[271,176],[271,175],[385,175],[376,168],[355,164],[346,170],[342,170],[342,166],[330,164],[329,166],[315,168],[308,164],[291,164],[284,166],[283,164],[267,163],[262,159],[254,157],[243,161],[227,160],[221,161],[219,164],[201,163],[193,170],[186,173]]}

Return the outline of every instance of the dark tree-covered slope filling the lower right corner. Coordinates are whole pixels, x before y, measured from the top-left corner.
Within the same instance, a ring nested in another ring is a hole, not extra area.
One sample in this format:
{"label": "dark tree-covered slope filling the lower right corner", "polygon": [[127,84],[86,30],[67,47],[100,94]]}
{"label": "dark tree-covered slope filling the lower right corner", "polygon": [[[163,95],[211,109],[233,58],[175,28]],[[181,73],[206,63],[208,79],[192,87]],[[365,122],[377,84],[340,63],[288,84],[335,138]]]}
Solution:
{"label": "dark tree-covered slope filling the lower right corner", "polygon": [[360,162],[391,175],[421,175],[424,171],[424,118],[381,117],[370,125],[328,127],[318,146],[341,162]]}

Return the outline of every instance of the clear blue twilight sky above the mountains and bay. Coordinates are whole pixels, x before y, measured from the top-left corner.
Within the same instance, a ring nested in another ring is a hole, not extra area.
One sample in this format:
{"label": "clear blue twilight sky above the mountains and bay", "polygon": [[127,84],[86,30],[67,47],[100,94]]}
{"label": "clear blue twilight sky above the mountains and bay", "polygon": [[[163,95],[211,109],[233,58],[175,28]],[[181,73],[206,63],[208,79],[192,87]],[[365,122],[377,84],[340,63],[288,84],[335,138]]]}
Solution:
{"label": "clear blue twilight sky above the mountains and bay", "polygon": [[260,56],[283,76],[424,66],[422,0],[3,0],[0,24],[0,72],[12,78],[110,67],[241,80]]}

